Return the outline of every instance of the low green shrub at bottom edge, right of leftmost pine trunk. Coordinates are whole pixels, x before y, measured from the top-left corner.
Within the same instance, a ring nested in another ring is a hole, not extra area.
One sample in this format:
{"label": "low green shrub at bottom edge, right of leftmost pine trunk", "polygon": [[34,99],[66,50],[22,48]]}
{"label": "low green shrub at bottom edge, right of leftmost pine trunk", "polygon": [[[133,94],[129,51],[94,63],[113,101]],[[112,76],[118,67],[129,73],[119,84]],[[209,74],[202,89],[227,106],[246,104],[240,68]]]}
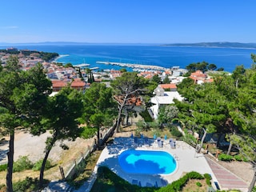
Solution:
{"label": "low green shrub at bottom edge, right of leftmost pine trunk", "polygon": [[25,180],[14,182],[14,192],[38,191],[38,179],[26,177]]}

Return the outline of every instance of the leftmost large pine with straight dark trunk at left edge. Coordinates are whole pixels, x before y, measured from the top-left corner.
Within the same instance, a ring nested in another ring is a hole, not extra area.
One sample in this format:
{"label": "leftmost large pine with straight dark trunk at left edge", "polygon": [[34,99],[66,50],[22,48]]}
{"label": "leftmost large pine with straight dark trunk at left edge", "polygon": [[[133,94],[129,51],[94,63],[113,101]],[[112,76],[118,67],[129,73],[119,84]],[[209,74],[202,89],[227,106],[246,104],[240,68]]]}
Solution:
{"label": "leftmost large pine with straight dark trunk at left edge", "polygon": [[34,132],[35,127],[40,127],[45,101],[51,93],[51,82],[42,69],[42,65],[38,63],[31,70],[21,71],[18,67],[18,58],[11,56],[6,67],[0,72],[0,107],[2,108],[0,125],[4,127],[5,133],[10,135],[7,154],[7,191],[13,191],[15,130],[27,128]]}

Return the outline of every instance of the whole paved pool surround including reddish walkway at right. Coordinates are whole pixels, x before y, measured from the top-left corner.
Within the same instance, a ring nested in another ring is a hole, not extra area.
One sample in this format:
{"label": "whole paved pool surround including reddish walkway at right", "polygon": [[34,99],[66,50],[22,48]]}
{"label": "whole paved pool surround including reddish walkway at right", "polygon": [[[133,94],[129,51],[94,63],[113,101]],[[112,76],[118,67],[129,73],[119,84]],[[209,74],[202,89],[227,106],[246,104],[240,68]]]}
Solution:
{"label": "whole paved pool surround including reddish walkway at right", "polygon": [[[163,146],[158,146],[158,142],[149,139],[145,142],[144,138],[138,138],[134,142],[134,138],[114,138],[114,143],[110,144],[102,150],[100,158],[98,158],[97,166],[94,167],[94,174],[79,190],[90,191],[96,179],[98,166],[107,166],[115,174],[131,184],[139,186],[166,186],[168,183],[174,182],[190,171],[196,171],[200,174],[210,174],[214,189],[217,187],[214,183],[218,183],[221,190],[239,189],[247,191],[246,182],[236,177],[218,163],[206,158],[204,154],[198,154],[194,148],[186,142],[176,141],[176,147],[171,147],[169,140],[163,140]],[[122,170],[118,163],[118,155],[124,150],[158,150],[170,153],[177,162],[177,168],[171,174],[130,174]],[[235,178],[234,178],[235,177]]]}

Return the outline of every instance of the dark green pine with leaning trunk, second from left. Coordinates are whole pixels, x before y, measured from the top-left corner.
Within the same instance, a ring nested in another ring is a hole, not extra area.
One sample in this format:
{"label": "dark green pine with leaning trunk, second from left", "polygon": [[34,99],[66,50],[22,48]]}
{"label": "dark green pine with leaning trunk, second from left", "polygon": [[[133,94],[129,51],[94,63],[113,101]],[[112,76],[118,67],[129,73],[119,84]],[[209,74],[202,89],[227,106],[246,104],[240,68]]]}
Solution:
{"label": "dark green pine with leaning trunk, second from left", "polygon": [[[83,103],[82,93],[73,90],[69,86],[63,88],[50,97],[47,103],[47,114],[44,126],[50,130],[51,136],[46,139],[45,157],[40,170],[39,186],[43,184],[43,174],[50,150],[55,142],[65,139],[75,139],[79,136],[78,118],[82,117]],[[66,149],[65,145],[61,145]]]}

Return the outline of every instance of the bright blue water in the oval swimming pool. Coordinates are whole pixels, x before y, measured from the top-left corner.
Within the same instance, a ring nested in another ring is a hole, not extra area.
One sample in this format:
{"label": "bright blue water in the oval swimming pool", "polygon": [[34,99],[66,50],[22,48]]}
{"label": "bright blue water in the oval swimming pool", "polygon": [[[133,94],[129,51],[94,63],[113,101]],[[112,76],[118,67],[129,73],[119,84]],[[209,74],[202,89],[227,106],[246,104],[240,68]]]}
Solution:
{"label": "bright blue water in the oval swimming pool", "polygon": [[122,170],[130,174],[170,174],[177,166],[170,154],[152,150],[123,151],[118,162]]}

